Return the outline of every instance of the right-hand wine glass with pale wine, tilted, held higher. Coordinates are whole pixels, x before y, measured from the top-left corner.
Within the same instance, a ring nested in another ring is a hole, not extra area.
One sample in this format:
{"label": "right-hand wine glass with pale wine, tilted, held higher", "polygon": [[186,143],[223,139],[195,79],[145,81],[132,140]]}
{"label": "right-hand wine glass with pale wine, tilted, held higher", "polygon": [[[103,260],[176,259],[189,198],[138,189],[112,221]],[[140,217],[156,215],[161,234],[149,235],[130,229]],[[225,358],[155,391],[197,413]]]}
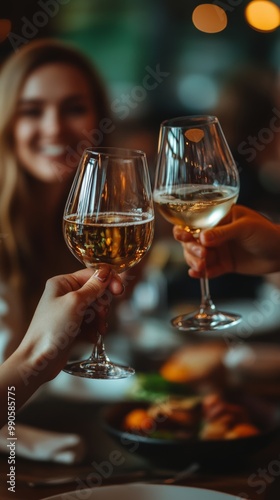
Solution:
{"label": "right-hand wine glass with pale wine, tilted, held higher", "polygon": [[[161,215],[199,239],[202,229],[215,226],[236,202],[239,175],[215,116],[185,116],[161,124],[154,202]],[[183,331],[228,328],[241,316],[217,310],[207,279],[201,282],[197,311],[172,320]]]}

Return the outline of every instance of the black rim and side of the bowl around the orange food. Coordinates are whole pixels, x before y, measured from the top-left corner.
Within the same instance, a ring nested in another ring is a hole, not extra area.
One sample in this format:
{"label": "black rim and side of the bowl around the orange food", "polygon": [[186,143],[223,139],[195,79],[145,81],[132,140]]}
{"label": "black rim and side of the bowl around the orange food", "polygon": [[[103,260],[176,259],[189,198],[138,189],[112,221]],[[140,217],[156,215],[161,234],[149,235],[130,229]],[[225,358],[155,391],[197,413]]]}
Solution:
{"label": "black rim and side of the bowl around the orange food", "polygon": [[[241,401],[242,399],[242,401]],[[149,435],[133,434],[122,429],[122,421],[125,415],[135,408],[146,408],[148,403],[143,402],[121,402],[109,405],[103,409],[103,427],[121,446],[131,453],[136,453],[159,465],[181,466],[198,462],[219,467],[232,464],[238,457],[240,464],[262,448],[269,445],[271,440],[279,432],[279,408],[267,402],[252,398],[235,396],[231,400],[245,406],[249,412],[252,422],[261,430],[260,434],[236,439],[202,440],[191,439],[165,439],[149,437]]]}

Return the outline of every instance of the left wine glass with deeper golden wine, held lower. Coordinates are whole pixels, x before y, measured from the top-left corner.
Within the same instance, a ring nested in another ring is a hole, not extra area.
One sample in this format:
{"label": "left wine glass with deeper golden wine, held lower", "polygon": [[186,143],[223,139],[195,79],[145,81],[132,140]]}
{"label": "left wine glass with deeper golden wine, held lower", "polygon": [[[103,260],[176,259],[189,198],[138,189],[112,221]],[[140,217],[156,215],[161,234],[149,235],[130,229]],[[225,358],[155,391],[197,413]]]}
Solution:
{"label": "left wine glass with deeper golden wine, held lower", "polygon": [[[109,264],[117,273],[135,266],[154,233],[153,197],[146,155],[119,148],[86,149],[63,215],[65,241],[86,267]],[[64,371],[80,377],[119,379],[131,367],[110,361],[96,332],[92,355]]]}

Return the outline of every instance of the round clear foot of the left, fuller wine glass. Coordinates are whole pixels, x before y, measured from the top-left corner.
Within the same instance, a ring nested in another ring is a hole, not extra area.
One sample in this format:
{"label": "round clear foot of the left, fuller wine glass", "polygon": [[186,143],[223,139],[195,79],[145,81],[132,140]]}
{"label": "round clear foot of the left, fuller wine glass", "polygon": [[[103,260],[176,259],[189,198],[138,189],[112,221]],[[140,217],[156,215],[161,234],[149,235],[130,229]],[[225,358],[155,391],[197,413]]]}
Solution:
{"label": "round clear foot of the left, fuller wine glass", "polygon": [[67,363],[64,372],[75,375],[76,377],[85,377],[92,379],[115,380],[130,377],[135,370],[130,366],[122,366],[112,362],[98,361],[74,361]]}

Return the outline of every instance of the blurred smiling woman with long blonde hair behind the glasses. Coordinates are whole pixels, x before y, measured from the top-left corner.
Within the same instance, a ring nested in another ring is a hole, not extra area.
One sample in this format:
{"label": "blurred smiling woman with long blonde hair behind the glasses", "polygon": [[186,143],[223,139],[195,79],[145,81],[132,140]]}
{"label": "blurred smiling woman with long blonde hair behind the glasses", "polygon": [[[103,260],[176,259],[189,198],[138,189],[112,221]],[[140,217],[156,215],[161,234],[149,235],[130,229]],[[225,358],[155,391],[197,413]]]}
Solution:
{"label": "blurred smiling woman with long blonde hair behind the glasses", "polygon": [[[55,40],[29,43],[0,78],[0,350],[10,354],[45,281],[77,264],[62,212],[81,153],[114,126],[91,63]],[[8,340],[8,342],[7,342]],[[8,344],[8,345],[7,345]]]}

